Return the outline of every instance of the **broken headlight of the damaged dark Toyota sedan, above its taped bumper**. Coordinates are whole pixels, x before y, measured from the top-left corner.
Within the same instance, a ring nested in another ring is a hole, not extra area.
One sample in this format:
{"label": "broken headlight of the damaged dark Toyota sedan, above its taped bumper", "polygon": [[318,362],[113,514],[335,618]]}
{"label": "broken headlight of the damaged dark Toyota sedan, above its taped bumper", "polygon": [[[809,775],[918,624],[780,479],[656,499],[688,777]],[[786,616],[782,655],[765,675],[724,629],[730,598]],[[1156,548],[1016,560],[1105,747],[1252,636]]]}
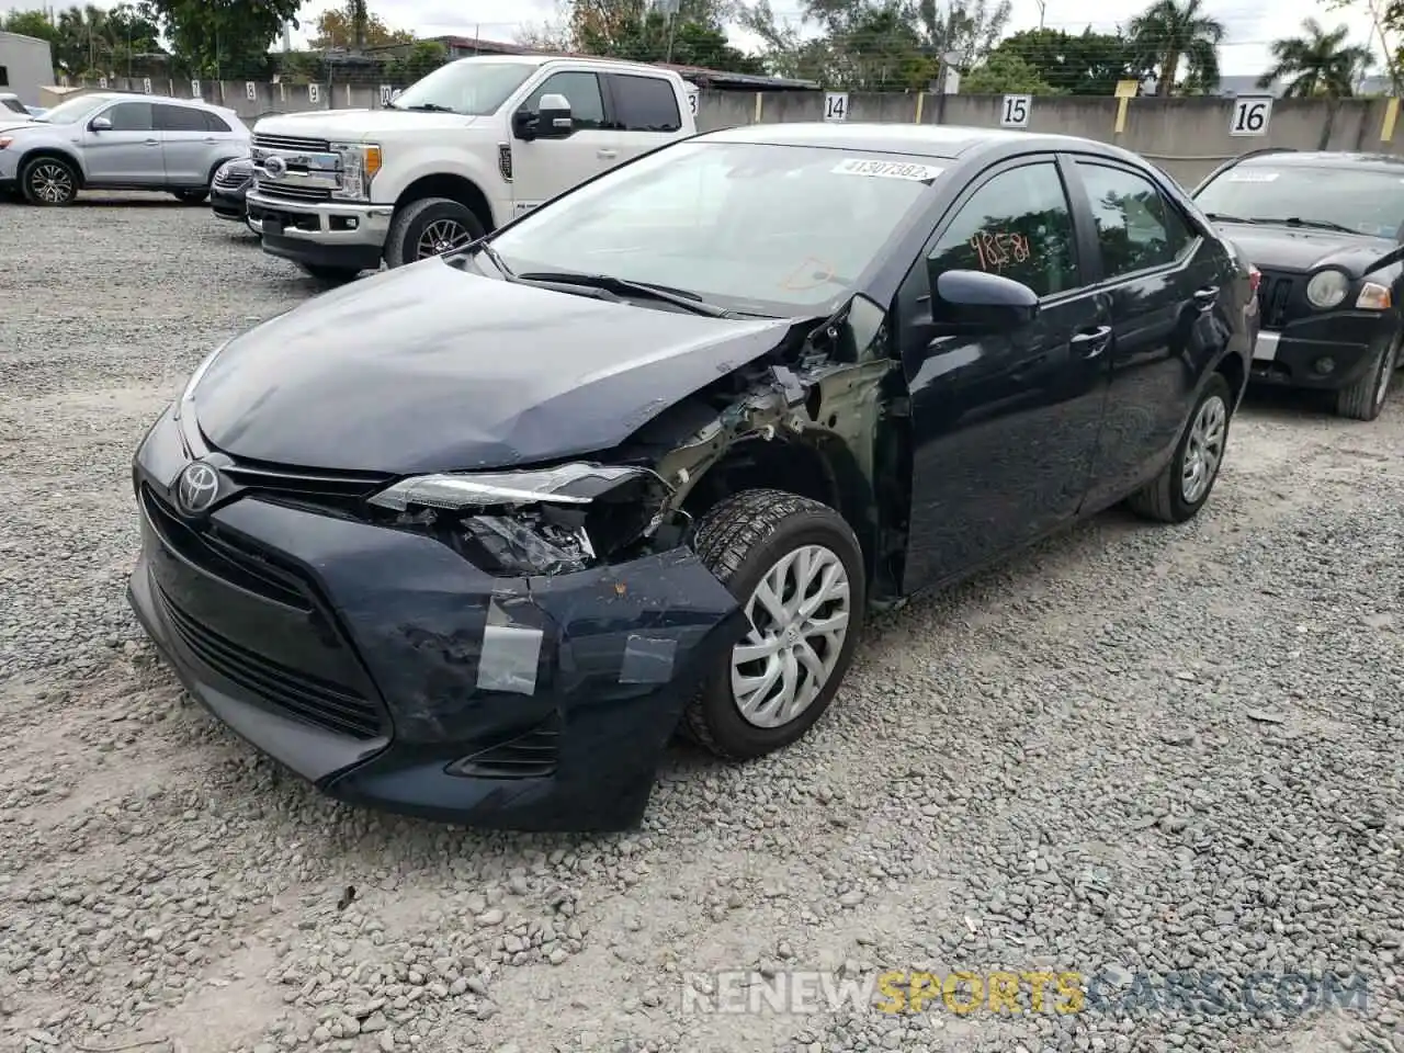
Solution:
{"label": "broken headlight of the damaged dark Toyota sedan, above its taped bumper", "polygon": [[668,487],[644,468],[569,463],[522,472],[414,476],[372,505],[425,529],[497,574],[559,574],[607,563],[649,541]]}

